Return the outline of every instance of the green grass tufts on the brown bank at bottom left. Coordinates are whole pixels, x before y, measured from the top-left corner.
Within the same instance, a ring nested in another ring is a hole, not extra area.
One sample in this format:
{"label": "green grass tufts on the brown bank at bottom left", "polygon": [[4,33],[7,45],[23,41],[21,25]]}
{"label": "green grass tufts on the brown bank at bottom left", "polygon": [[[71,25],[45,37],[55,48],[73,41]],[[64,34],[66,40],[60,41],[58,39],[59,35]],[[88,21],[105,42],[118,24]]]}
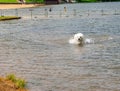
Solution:
{"label": "green grass tufts on the brown bank at bottom left", "polygon": [[17,78],[14,74],[9,74],[6,76],[7,80],[11,80],[18,88],[25,88],[26,81],[21,78]]}

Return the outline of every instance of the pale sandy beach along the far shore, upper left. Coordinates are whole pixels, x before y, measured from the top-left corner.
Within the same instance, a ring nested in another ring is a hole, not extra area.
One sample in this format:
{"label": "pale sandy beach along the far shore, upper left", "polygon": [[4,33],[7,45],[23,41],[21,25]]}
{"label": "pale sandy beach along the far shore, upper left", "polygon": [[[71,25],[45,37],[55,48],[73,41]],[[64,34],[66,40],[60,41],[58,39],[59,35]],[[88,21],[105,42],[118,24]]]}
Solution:
{"label": "pale sandy beach along the far shore, upper left", "polygon": [[44,6],[44,4],[0,4],[0,9],[19,9]]}

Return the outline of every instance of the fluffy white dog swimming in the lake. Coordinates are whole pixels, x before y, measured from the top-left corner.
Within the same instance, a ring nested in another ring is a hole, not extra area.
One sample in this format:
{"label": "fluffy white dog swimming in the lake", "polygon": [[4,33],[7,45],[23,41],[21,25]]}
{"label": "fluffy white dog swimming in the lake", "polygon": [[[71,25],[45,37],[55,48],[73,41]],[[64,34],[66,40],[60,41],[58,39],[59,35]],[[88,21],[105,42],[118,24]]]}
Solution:
{"label": "fluffy white dog swimming in the lake", "polygon": [[84,44],[84,35],[82,33],[77,33],[72,39],[69,40],[70,44],[83,45]]}

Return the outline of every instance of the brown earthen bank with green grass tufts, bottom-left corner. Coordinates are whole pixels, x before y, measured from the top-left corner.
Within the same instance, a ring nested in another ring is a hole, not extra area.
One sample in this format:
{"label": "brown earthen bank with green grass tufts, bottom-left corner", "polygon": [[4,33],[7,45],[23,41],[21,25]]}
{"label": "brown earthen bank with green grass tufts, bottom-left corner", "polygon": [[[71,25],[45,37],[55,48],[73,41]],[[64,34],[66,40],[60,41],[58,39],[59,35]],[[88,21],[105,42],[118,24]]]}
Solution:
{"label": "brown earthen bank with green grass tufts, bottom-left corner", "polygon": [[25,80],[17,78],[14,74],[0,77],[0,91],[28,91]]}

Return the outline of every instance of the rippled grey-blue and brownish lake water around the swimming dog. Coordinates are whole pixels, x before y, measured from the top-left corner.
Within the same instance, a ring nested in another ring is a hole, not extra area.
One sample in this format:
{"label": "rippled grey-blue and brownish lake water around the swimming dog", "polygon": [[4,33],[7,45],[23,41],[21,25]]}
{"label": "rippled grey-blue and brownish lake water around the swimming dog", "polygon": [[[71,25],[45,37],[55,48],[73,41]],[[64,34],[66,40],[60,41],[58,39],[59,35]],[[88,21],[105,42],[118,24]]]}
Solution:
{"label": "rippled grey-blue and brownish lake water around the swimming dog", "polygon": [[[50,5],[2,14],[22,19],[0,22],[0,75],[25,78],[29,91],[120,91],[119,2]],[[78,32],[94,43],[69,44]]]}

